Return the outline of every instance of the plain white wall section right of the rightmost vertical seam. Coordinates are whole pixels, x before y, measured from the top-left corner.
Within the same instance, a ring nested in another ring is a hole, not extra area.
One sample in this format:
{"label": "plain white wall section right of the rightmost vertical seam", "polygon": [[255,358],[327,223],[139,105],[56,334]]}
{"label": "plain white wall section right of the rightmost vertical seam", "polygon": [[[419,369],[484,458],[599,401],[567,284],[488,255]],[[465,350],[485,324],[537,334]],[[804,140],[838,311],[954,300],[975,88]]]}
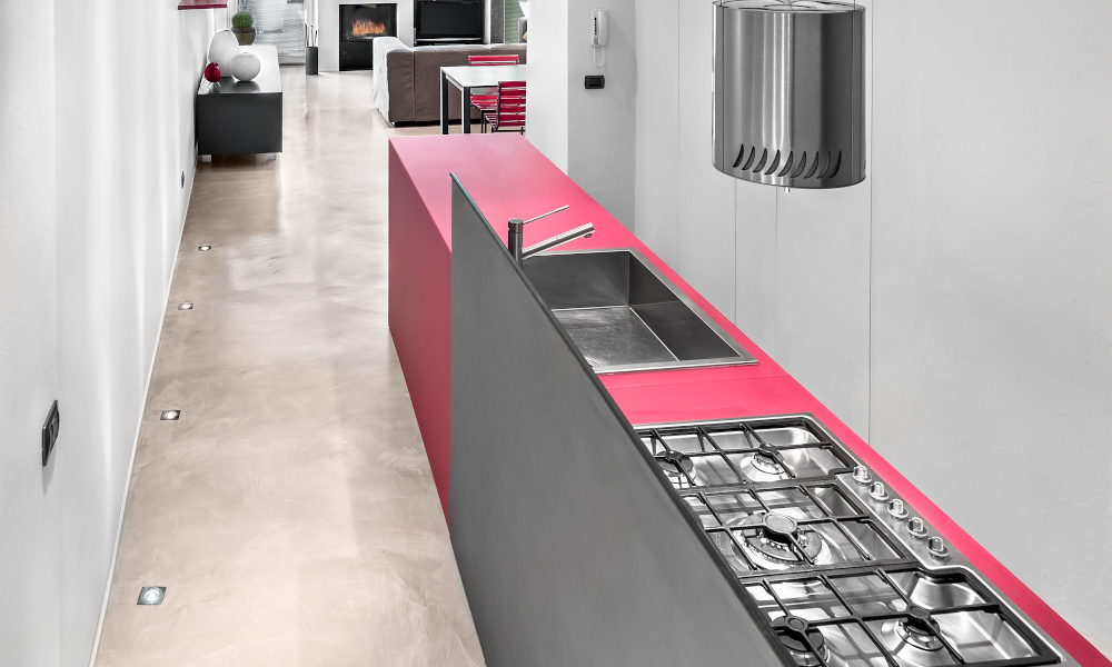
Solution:
{"label": "plain white wall section right of the rightmost vertical seam", "polygon": [[1112,656],[1112,4],[878,4],[873,444]]}

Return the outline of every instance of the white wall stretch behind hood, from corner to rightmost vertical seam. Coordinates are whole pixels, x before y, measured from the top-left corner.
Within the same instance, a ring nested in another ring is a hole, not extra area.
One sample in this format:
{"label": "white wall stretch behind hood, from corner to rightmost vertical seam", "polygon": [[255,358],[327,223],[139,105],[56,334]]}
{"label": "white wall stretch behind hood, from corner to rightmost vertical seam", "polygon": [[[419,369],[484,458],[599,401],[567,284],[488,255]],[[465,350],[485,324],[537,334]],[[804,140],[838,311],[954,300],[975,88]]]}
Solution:
{"label": "white wall stretch behind hood, from corner to rightmost vertical seam", "polygon": [[643,67],[637,91],[638,237],[867,438],[871,183],[787,193],[715,170],[713,6],[638,12],[665,17],[653,39],[638,34],[642,61],[665,63]]}

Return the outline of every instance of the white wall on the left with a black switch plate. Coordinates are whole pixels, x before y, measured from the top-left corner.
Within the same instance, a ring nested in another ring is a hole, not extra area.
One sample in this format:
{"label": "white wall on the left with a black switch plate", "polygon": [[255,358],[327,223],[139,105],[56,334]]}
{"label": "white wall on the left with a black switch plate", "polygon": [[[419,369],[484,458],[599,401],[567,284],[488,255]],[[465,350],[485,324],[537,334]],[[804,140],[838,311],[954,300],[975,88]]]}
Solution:
{"label": "white wall on the left with a black switch plate", "polygon": [[0,0],[0,664],[89,664],[226,13]]}

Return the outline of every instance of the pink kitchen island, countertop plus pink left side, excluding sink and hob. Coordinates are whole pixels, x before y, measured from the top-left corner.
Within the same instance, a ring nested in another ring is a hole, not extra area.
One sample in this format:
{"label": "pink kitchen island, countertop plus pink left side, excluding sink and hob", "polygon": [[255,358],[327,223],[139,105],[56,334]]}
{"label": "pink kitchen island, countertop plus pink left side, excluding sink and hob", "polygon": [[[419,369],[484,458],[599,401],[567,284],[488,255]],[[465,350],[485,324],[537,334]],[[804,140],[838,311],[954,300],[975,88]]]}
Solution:
{"label": "pink kitchen island, countertop plus pink left side, excluding sink and hob", "polygon": [[639,251],[757,359],[753,366],[600,376],[605,389],[629,422],[814,415],[1074,659],[1082,665],[1109,664],[634,235],[516,135],[420,137],[390,142],[390,329],[446,515],[451,486],[453,195],[449,172],[455,173],[503,241],[506,219],[530,218],[568,205],[568,211],[528,226],[525,245],[592,222],[596,229],[593,237],[576,240],[562,249],[633,248]]}

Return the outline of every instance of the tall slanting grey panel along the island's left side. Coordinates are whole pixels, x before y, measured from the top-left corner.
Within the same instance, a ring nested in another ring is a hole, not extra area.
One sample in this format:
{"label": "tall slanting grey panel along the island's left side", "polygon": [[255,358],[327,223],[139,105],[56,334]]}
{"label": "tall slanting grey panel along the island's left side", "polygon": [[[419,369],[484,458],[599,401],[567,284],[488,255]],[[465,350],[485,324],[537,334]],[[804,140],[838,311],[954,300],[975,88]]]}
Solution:
{"label": "tall slanting grey panel along the island's left side", "polygon": [[793,665],[455,180],[451,210],[449,520],[487,664]]}

